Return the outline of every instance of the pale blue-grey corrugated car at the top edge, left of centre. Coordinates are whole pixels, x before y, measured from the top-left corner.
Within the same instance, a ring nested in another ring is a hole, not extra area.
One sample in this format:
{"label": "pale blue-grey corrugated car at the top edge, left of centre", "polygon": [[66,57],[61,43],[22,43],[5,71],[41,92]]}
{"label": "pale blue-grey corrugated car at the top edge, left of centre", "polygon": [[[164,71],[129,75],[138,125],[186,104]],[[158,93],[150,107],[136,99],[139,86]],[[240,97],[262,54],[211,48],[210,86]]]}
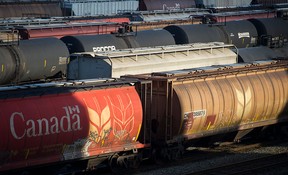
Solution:
{"label": "pale blue-grey corrugated car at the top edge, left of centre", "polygon": [[138,6],[138,0],[71,2],[71,10],[75,16],[113,15],[121,11],[135,11]]}

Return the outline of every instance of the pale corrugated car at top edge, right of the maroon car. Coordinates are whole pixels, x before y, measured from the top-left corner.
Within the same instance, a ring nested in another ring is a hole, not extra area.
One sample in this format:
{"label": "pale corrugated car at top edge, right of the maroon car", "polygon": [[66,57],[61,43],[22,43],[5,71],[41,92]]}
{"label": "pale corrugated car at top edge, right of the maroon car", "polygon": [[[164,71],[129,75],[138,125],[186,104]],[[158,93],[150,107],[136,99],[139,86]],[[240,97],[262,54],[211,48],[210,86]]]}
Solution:
{"label": "pale corrugated car at top edge, right of the maroon car", "polygon": [[197,6],[204,7],[239,7],[249,6],[252,0],[195,0]]}

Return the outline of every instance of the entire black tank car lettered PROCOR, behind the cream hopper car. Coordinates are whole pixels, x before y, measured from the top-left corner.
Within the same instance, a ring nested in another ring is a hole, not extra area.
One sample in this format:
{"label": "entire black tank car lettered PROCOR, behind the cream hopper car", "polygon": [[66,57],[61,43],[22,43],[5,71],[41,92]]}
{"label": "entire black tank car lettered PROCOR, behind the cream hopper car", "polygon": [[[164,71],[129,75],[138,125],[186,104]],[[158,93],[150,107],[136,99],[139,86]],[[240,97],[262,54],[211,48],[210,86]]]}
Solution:
{"label": "entire black tank car lettered PROCOR, behind the cream hopper car", "polygon": [[[155,36],[158,38],[155,40]],[[119,50],[127,48],[174,45],[172,35],[163,29],[139,31],[127,34],[64,36],[61,40],[70,53]]]}

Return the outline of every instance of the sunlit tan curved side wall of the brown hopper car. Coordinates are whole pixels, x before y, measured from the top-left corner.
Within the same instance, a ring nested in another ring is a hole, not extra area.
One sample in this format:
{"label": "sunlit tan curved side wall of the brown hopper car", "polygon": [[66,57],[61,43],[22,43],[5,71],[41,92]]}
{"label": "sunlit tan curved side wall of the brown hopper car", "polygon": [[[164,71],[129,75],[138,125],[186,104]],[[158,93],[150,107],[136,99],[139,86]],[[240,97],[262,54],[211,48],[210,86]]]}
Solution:
{"label": "sunlit tan curved side wall of the brown hopper car", "polygon": [[[207,111],[205,115],[193,115],[193,125],[186,132],[179,134],[190,135],[226,127],[237,128],[253,122],[277,120],[288,102],[287,87],[287,73],[281,69],[175,83],[175,95],[180,99],[180,103],[174,105],[180,105],[182,125],[186,124],[184,118],[187,112]],[[186,94],[189,94],[189,98]],[[208,120],[211,120],[209,116],[216,116],[216,119],[207,127]],[[173,119],[179,120],[176,117]]]}

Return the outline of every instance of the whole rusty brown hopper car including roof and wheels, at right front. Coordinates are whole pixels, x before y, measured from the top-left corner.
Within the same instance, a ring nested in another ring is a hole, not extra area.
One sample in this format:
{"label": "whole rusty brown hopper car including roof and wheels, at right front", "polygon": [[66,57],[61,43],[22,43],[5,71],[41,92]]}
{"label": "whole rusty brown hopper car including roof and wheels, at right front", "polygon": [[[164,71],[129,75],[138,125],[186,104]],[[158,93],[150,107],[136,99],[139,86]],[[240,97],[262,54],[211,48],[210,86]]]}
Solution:
{"label": "whole rusty brown hopper car including roof and wheels, at right front", "polygon": [[159,146],[156,152],[171,159],[186,141],[228,133],[238,140],[255,128],[287,122],[287,61],[283,63],[264,61],[128,77],[152,81],[151,113],[144,116],[151,121],[147,132],[152,131],[152,145]]}

